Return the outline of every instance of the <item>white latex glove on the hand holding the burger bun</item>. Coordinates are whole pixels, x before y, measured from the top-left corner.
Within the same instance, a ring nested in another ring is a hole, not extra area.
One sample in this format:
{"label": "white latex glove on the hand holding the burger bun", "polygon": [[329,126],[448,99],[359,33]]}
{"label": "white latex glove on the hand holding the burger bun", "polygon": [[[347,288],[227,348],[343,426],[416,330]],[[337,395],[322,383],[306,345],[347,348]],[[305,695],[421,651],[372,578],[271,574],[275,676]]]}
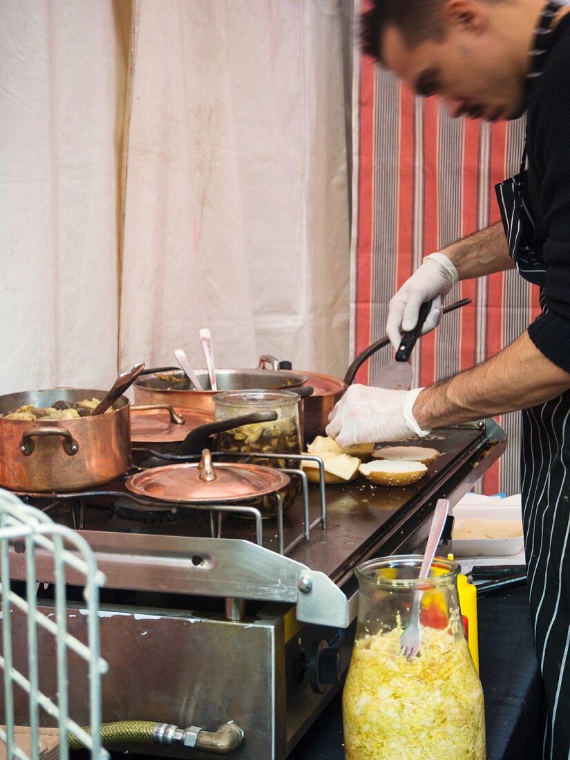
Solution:
{"label": "white latex glove on the hand holding the burger bun", "polygon": [[422,430],[414,419],[413,404],[423,388],[391,391],[369,385],[350,385],[328,415],[327,435],[339,446],[356,443],[398,441],[419,435]]}

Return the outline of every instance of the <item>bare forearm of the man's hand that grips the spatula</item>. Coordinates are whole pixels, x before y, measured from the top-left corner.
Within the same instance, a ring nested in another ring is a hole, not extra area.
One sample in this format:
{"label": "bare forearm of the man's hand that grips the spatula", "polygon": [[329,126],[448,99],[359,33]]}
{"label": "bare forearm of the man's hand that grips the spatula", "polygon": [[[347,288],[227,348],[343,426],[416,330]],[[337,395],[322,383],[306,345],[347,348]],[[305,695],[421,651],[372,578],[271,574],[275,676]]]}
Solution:
{"label": "bare forearm of the man's hand that grips the spatula", "polygon": [[482,277],[515,266],[508,255],[505,232],[500,222],[451,243],[441,252],[451,259],[460,280]]}

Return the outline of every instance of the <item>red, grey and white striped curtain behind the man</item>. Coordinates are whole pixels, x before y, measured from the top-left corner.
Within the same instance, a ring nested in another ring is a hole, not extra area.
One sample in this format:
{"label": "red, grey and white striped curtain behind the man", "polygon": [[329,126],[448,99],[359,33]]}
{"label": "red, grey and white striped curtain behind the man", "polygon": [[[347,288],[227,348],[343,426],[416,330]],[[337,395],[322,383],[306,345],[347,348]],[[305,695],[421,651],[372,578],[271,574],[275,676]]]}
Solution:
{"label": "red, grey and white striped curtain behind the man", "polygon": [[[414,97],[361,57],[354,116],[353,352],[385,334],[388,302],[423,256],[499,220],[494,185],[518,172],[524,122],[451,119],[437,98]],[[537,288],[514,271],[458,283],[446,302],[472,299],[442,318],[414,351],[416,385],[467,369],[514,340],[538,313]],[[368,382],[391,359],[382,350],[361,369]],[[483,492],[520,491],[520,415],[498,418],[505,457]]]}

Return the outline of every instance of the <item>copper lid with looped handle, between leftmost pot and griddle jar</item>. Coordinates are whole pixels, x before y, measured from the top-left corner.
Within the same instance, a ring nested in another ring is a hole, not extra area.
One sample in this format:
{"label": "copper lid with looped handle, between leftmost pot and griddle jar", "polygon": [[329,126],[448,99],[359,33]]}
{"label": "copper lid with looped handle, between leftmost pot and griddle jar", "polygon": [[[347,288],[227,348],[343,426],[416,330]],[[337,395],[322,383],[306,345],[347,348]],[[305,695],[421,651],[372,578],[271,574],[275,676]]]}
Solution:
{"label": "copper lid with looped handle, between leftmost pot and griddle jar", "polygon": [[201,409],[182,409],[169,404],[144,404],[131,407],[133,443],[177,443],[191,430],[214,420],[214,413]]}

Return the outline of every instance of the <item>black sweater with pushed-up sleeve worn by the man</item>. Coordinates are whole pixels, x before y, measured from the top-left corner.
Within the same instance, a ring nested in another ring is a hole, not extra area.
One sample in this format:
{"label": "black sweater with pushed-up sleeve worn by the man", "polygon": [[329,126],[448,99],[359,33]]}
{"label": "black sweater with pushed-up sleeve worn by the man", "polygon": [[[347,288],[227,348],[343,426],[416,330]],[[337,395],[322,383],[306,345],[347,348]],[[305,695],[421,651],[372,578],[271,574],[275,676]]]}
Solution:
{"label": "black sweater with pushed-up sleeve worn by the man", "polygon": [[570,14],[552,32],[527,111],[527,202],[543,259],[543,313],[528,328],[535,346],[570,372]]}

